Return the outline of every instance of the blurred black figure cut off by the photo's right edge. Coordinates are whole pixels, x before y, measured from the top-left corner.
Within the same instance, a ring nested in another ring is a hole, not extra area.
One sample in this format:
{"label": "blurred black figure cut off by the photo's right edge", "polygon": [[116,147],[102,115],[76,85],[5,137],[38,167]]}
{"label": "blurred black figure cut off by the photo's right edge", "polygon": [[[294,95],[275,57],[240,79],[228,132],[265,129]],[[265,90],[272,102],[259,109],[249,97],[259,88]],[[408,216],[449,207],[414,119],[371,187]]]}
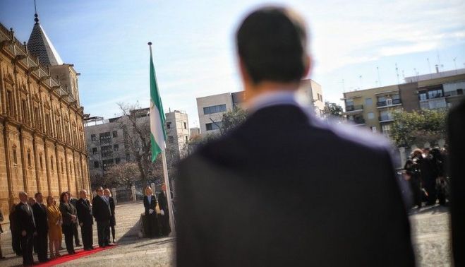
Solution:
{"label": "blurred black figure cut off by the photo's right edge", "polygon": [[451,177],[450,218],[455,266],[465,266],[465,100],[447,118],[449,174]]}

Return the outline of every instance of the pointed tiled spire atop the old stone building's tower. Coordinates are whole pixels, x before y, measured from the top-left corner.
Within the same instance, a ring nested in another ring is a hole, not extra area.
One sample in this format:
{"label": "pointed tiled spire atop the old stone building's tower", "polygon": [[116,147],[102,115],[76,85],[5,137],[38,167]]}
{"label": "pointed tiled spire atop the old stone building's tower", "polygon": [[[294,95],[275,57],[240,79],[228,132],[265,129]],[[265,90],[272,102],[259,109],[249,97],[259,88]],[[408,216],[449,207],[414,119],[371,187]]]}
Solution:
{"label": "pointed tiled spire atop the old stone building's tower", "polygon": [[39,23],[39,15],[37,15],[37,7],[34,1],[34,28],[32,28],[32,32],[29,37],[28,41],[28,51],[31,54],[34,54],[36,57],[39,58],[39,61],[47,66],[54,66],[54,65],[61,65],[63,64],[63,60],[61,60],[60,55],[56,52],[54,45],[50,41],[47,33],[45,33],[42,25]]}

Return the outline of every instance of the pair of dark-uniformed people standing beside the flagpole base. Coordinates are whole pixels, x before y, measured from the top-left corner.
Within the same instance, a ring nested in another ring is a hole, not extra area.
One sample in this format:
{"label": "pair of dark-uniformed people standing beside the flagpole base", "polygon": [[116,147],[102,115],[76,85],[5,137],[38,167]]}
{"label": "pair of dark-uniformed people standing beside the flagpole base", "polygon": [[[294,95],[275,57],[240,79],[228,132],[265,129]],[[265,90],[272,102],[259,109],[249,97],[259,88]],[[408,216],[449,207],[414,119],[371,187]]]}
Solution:
{"label": "pair of dark-uniformed people standing beside the flagpole base", "polygon": [[169,209],[167,201],[167,186],[162,184],[162,191],[158,194],[159,213],[156,210],[157,198],[153,195],[150,186],[145,188],[144,208],[147,227],[147,237],[167,236],[171,232],[169,225]]}

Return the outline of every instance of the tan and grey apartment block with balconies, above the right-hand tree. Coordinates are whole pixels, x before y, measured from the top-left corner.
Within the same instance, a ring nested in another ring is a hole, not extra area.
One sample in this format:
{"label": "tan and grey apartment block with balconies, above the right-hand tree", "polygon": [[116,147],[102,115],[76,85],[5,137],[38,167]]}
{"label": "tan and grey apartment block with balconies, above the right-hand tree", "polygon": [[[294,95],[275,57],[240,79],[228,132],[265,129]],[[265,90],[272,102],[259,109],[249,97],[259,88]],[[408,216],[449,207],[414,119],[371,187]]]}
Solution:
{"label": "tan and grey apartment block with balconies, above the right-hand tree", "polygon": [[344,93],[348,121],[389,136],[392,112],[442,109],[464,95],[465,70],[406,77],[406,83]]}

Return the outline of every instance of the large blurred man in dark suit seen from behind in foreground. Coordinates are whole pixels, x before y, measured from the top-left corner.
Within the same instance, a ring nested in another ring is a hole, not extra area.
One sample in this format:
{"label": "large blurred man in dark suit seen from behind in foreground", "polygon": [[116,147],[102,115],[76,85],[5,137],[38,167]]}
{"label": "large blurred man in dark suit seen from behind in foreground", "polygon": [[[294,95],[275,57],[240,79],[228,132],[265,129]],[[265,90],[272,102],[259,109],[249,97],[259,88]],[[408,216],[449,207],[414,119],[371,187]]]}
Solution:
{"label": "large blurred man in dark suit seen from behind in foreground", "polygon": [[387,141],[296,101],[303,20],[260,8],[236,42],[249,115],[179,166],[177,265],[415,266]]}

